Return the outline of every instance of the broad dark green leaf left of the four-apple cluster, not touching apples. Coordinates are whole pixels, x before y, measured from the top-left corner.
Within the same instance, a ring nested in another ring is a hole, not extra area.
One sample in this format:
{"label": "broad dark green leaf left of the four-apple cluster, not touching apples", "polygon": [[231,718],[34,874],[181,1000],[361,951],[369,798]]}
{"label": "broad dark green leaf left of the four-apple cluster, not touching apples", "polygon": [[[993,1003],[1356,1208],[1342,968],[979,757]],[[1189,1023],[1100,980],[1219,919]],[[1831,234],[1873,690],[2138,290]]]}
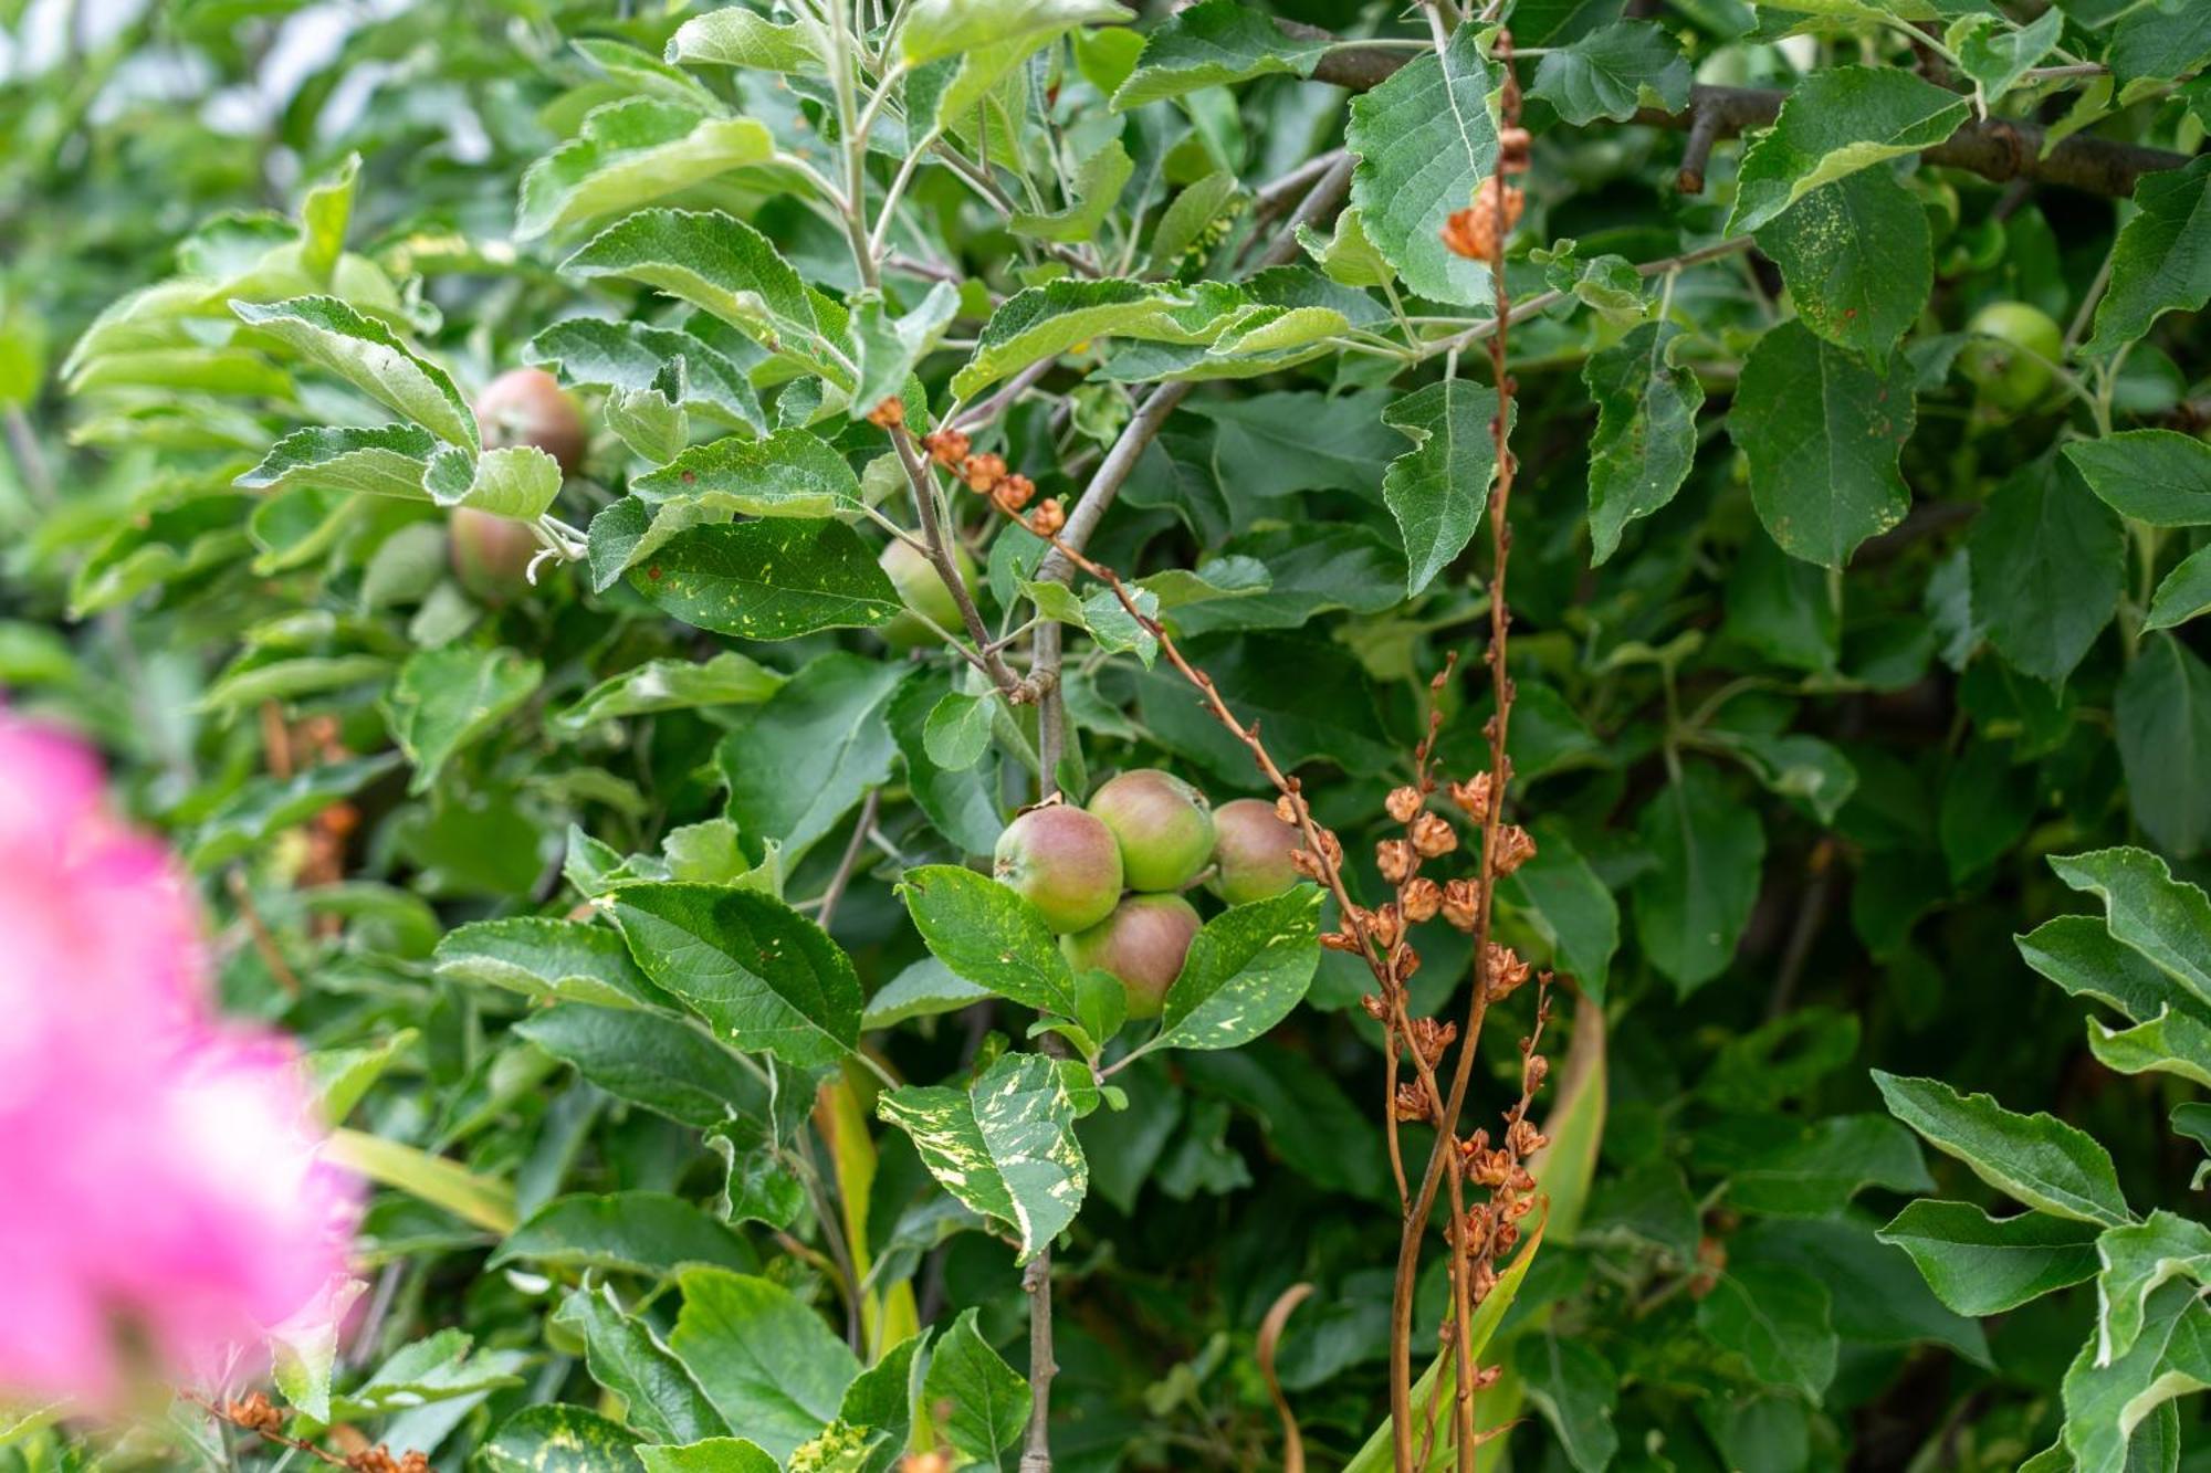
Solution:
{"label": "broad dark green leaf left of the four-apple cluster, not touching apples", "polygon": [[721,885],[615,891],[630,955],[736,1048],[794,1068],[860,1042],[860,978],[829,936],[774,896]]}

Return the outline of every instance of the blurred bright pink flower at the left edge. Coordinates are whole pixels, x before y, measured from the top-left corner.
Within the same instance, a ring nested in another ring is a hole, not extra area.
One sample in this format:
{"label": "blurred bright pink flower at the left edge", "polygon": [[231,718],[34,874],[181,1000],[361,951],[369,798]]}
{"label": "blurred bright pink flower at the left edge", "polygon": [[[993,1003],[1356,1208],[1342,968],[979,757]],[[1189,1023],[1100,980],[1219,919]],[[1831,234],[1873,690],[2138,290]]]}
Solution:
{"label": "blurred bright pink flower at the left edge", "polygon": [[[190,887],[0,710],[0,1389],[206,1373],[345,1267],[292,1046],[221,1024]],[[133,1356],[150,1356],[142,1367]]]}

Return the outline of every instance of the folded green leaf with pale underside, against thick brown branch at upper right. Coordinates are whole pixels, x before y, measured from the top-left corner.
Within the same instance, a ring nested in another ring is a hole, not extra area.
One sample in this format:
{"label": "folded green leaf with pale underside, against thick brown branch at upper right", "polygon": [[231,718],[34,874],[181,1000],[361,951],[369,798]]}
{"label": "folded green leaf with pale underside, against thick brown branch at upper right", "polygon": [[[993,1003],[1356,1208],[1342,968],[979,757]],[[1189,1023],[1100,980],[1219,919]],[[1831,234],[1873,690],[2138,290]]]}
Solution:
{"label": "folded green leaf with pale underside, against thick brown branch at upper right", "polygon": [[1758,230],[1822,184],[1950,137],[1968,97],[1897,66],[1835,66],[1789,88],[1773,128],[1744,148],[1729,234]]}

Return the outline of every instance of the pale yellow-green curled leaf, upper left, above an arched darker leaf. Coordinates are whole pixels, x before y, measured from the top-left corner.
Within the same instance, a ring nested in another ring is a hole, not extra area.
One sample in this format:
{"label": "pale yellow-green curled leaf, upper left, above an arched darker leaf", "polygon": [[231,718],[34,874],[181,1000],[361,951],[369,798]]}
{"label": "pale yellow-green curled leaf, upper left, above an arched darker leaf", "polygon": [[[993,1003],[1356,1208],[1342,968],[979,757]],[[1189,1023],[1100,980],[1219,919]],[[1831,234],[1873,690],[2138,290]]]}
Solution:
{"label": "pale yellow-green curled leaf, upper left, above an arched darker leaf", "polygon": [[663,97],[608,102],[522,173],[515,239],[621,215],[774,155],[774,135],[752,117],[712,117]]}

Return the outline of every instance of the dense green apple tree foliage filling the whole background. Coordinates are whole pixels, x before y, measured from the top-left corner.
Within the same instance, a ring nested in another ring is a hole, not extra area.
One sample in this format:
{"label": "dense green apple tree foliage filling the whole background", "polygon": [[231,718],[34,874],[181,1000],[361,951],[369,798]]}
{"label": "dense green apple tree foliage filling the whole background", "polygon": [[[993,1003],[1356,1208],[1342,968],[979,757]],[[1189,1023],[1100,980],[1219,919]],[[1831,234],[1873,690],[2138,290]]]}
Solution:
{"label": "dense green apple tree foliage filling the whole background", "polygon": [[[1559,1046],[1484,1464],[2204,1466],[2204,7],[1143,9],[0,4],[0,686],[111,754],[378,1183],[292,1431],[1010,1469],[1048,1263],[1055,1466],[1280,1466],[1296,1283],[1309,1464],[1389,1464],[1371,978],[1318,887],[1192,891],[1154,1026],[988,878],[1039,787],[1271,792],[869,411],[1106,506],[1380,898],[1453,652],[1439,761],[1488,761],[1492,288],[1442,232],[1501,11],[1497,924]],[[478,422],[515,367],[566,476]],[[1419,947],[1461,1017],[1468,938]],[[113,1455],[276,1466],[226,1431]],[[0,1469],[95,1449],[0,1418]]]}

